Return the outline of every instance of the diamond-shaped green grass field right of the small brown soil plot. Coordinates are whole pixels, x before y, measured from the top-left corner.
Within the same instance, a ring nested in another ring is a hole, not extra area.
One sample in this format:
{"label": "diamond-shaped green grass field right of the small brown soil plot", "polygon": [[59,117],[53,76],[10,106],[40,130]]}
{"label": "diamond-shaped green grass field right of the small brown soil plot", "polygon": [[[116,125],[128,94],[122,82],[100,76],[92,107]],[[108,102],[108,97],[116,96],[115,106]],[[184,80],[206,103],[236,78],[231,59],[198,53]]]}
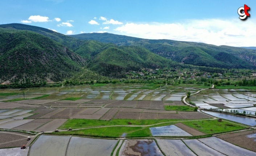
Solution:
{"label": "diamond-shaped green grass field right of the small brown soil plot", "polygon": [[205,134],[223,133],[223,132],[241,130],[246,128],[244,126],[236,125],[234,123],[230,123],[226,121],[218,122],[217,119],[203,120],[203,121],[190,121],[190,122],[182,122],[182,123],[196,130],[199,130]]}

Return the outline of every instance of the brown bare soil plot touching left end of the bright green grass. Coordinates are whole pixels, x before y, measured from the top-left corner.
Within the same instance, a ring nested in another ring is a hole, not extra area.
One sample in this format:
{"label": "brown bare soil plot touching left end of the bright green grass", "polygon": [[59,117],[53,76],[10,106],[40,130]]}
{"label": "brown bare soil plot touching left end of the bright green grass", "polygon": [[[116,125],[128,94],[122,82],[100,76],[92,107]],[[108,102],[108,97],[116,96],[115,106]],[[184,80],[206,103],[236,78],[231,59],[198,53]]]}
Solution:
{"label": "brown bare soil plot touching left end of the bright green grass", "polygon": [[53,121],[50,121],[46,123],[45,125],[37,128],[35,131],[40,132],[40,131],[54,131],[58,129],[64,122],[66,122],[67,119],[54,119]]}

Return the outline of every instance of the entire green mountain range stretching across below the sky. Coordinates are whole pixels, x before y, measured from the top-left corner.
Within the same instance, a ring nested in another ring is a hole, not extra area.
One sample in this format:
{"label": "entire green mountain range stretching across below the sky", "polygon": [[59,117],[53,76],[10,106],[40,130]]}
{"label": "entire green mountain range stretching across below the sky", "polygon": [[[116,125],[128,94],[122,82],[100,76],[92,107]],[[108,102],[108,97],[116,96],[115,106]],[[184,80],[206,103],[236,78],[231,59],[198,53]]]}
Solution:
{"label": "entire green mountain range stretching across below the sky", "polygon": [[0,80],[97,80],[141,68],[187,65],[256,68],[256,50],[109,33],[64,35],[25,24],[0,25]]}

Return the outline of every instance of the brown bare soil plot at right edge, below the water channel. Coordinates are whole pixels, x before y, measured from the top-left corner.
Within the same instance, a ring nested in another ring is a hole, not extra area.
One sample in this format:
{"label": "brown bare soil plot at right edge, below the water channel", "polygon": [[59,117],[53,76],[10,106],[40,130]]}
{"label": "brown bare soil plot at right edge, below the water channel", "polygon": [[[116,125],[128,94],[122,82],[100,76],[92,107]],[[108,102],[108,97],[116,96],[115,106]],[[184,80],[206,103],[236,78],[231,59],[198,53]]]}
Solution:
{"label": "brown bare soil plot at right edge, below the water channel", "polygon": [[251,134],[256,136],[256,130],[219,135],[218,138],[256,152],[256,138],[247,137]]}

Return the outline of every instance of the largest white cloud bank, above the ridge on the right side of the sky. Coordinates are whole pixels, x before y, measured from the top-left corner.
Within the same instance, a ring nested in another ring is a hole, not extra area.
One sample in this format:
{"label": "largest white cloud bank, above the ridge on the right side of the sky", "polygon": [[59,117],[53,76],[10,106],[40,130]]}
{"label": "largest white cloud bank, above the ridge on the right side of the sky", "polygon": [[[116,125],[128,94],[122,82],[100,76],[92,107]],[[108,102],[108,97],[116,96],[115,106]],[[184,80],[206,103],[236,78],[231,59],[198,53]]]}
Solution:
{"label": "largest white cloud bank, above the ridge on the right side of the sky", "polygon": [[256,20],[238,18],[188,20],[183,23],[127,23],[115,30],[121,34],[146,39],[172,39],[213,45],[256,46]]}

